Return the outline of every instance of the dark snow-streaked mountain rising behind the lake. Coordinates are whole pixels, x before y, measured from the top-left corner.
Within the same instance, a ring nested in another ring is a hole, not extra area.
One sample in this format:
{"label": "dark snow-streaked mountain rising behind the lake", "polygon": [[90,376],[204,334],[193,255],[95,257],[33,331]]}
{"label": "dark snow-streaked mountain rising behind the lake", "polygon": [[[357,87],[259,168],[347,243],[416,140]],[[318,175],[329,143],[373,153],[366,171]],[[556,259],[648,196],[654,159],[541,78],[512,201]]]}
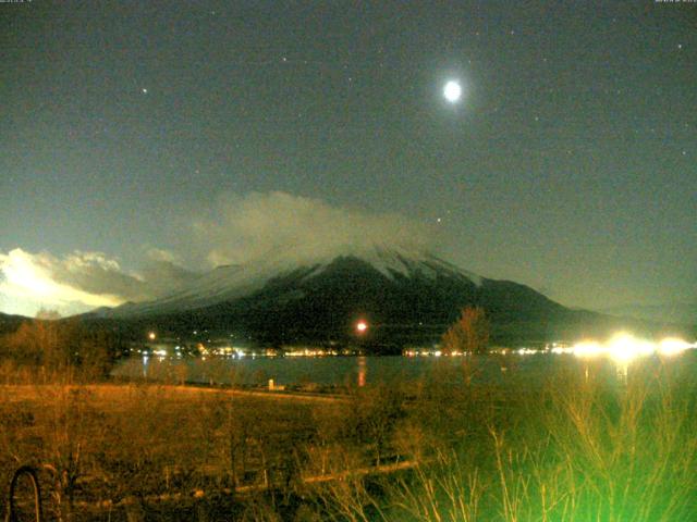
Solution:
{"label": "dark snow-streaked mountain rising behind the lake", "polygon": [[[352,344],[390,352],[437,341],[466,306],[485,309],[492,339],[543,343],[604,330],[609,318],[571,310],[534,289],[464,271],[424,251],[374,246],[320,258],[271,252],[220,266],[164,298],[88,315],[142,332],[231,333],[264,346]],[[592,331],[592,332],[590,332]]]}

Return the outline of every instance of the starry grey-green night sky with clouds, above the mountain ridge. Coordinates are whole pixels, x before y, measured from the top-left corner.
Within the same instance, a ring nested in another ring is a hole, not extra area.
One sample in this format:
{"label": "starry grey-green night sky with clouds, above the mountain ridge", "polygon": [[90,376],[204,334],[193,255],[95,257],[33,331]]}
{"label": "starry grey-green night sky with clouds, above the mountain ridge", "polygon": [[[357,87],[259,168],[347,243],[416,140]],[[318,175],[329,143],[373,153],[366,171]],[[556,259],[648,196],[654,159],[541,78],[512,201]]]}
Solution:
{"label": "starry grey-green night sky with clouds, above the mountain ridge", "polygon": [[567,306],[697,299],[697,3],[0,3],[0,311],[151,297],[296,208]]}

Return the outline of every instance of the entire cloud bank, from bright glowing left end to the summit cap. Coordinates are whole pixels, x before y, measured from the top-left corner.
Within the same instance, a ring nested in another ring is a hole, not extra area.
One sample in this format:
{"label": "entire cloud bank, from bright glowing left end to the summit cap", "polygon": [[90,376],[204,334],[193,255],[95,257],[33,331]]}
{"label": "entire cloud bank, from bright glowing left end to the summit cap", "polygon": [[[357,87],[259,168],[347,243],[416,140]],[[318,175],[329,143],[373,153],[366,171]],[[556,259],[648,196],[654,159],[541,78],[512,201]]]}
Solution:
{"label": "entire cloud bank, from bright glowing left end to the summit cap", "polygon": [[[273,253],[289,261],[327,258],[374,245],[425,249],[428,226],[396,213],[337,208],[319,199],[286,192],[225,194],[191,220],[191,247],[198,270],[254,262]],[[88,246],[85,246],[88,247]],[[184,248],[182,248],[184,250]],[[61,314],[114,307],[162,297],[189,284],[197,271],[183,268],[180,256],[150,248],[136,269],[117,256],[75,250],[58,257],[14,248],[0,251],[0,311],[34,315],[39,309]],[[126,253],[126,252],[122,252]],[[129,252],[131,253],[131,252]]]}

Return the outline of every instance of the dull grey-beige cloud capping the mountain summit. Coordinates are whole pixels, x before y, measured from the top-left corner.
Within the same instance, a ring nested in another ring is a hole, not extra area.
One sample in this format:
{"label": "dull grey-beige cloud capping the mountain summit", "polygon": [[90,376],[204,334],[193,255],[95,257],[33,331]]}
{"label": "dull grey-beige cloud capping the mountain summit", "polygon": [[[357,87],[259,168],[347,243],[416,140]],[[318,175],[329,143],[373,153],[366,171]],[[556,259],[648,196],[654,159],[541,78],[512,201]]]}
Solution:
{"label": "dull grey-beige cloud capping the mountain summit", "polygon": [[331,207],[279,191],[224,195],[195,228],[211,265],[254,261],[269,252],[302,261],[375,245],[426,249],[432,243],[429,226],[402,214]]}

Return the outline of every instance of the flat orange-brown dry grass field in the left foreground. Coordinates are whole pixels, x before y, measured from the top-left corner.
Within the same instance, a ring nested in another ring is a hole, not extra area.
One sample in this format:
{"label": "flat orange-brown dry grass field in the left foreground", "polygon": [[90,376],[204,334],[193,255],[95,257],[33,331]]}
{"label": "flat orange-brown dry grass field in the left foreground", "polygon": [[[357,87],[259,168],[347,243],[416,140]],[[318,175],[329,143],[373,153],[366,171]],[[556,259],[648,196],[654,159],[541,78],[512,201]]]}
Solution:
{"label": "flat orange-brown dry grass field in the left foreground", "polygon": [[0,401],[0,480],[40,468],[63,517],[289,482],[335,415],[331,401],[155,385],[2,386]]}

